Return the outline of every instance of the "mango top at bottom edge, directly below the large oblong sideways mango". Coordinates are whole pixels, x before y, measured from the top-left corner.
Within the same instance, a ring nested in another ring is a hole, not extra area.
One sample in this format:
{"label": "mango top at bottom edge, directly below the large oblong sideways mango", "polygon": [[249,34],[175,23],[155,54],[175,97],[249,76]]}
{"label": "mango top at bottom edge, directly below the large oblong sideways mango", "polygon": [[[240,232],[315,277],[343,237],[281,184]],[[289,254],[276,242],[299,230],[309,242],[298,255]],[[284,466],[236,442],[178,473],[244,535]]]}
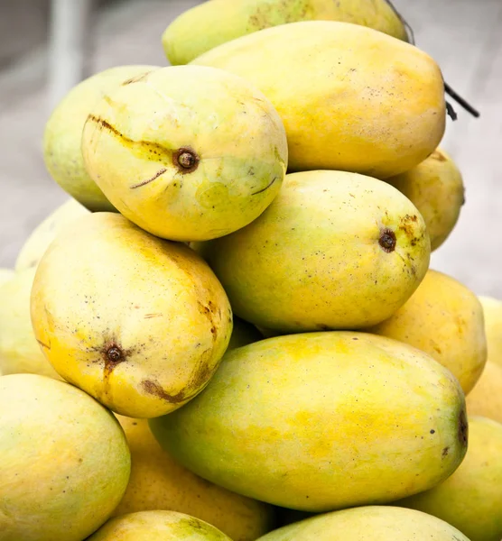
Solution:
{"label": "mango top at bottom edge, directly below the large oblong sideways mango", "polygon": [[368,506],[296,522],[258,541],[469,541],[439,518],[414,509]]}

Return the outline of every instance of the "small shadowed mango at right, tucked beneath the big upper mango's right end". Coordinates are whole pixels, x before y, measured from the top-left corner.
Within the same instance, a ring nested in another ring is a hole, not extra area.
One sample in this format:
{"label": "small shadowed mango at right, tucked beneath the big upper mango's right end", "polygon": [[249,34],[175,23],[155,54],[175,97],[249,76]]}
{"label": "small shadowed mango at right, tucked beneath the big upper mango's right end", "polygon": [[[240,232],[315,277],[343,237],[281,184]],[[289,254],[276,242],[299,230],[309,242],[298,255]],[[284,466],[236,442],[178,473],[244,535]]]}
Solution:
{"label": "small shadowed mango at right, tucked beneath the big upper mango's right end", "polygon": [[436,149],[412,170],[386,181],[411,199],[423,215],[432,251],[439,248],[457,224],[465,202],[462,175],[451,156]]}

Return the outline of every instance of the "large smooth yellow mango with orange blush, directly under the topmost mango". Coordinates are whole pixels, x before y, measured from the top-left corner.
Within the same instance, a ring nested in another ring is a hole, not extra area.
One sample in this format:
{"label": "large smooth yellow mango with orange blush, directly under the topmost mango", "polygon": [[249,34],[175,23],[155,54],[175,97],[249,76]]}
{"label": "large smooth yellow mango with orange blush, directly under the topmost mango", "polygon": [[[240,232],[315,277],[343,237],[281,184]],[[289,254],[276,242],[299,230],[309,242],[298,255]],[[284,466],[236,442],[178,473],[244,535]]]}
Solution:
{"label": "large smooth yellow mango with orange blush, directly under the topmost mango", "polygon": [[191,64],[259,88],[286,129],[288,170],[348,170],[386,179],[434,151],[445,128],[442,73],[422,50],[351,23],[267,28]]}

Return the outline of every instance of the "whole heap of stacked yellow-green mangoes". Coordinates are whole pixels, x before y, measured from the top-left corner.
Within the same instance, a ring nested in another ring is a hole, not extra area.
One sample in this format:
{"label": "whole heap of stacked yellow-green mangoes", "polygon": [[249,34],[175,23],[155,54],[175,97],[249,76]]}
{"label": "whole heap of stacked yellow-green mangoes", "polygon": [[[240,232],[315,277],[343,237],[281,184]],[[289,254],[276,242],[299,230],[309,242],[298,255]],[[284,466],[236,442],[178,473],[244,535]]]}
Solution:
{"label": "whole heap of stacked yellow-green mangoes", "polygon": [[436,62],[384,0],[210,0],[163,46],[46,126],[0,541],[500,541],[502,303],[429,268]]}

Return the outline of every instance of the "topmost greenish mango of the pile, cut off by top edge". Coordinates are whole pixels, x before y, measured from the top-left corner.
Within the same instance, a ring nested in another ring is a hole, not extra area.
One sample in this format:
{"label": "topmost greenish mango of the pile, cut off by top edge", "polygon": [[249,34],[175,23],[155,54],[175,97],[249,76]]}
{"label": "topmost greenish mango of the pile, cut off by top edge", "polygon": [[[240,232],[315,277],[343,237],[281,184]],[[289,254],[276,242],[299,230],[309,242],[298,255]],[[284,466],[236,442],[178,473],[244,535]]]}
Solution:
{"label": "topmost greenish mango of the pile, cut off by top edge", "polygon": [[163,32],[172,65],[188,64],[208,50],[246,34],[300,21],[362,24],[407,41],[398,14],[386,0],[211,0],[182,13]]}

